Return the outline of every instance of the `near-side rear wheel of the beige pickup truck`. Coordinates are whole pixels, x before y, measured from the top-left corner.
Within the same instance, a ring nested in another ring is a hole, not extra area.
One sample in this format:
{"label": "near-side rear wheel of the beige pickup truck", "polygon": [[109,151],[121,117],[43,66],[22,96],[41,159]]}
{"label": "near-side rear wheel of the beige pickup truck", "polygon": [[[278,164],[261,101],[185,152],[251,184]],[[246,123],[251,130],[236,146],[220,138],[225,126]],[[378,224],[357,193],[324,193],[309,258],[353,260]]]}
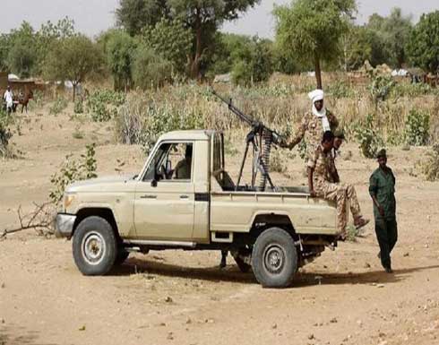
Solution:
{"label": "near-side rear wheel of the beige pickup truck", "polygon": [[270,228],[256,238],[252,253],[256,280],[264,288],[285,288],[297,272],[297,249],[293,237],[280,228]]}

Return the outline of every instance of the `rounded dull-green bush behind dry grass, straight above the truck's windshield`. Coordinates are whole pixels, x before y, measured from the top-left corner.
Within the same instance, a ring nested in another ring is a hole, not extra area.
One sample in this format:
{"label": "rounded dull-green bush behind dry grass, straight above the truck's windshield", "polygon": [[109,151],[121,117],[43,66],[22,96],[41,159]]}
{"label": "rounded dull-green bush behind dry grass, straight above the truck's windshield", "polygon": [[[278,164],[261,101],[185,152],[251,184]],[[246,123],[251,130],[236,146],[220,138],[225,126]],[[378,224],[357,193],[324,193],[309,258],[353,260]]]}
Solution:
{"label": "rounded dull-green bush behind dry grass, straight above the truck's windshield", "polygon": [[172,64],[144,44],[133,55],[134,84],[142,89],[163,86],[172,78]]}

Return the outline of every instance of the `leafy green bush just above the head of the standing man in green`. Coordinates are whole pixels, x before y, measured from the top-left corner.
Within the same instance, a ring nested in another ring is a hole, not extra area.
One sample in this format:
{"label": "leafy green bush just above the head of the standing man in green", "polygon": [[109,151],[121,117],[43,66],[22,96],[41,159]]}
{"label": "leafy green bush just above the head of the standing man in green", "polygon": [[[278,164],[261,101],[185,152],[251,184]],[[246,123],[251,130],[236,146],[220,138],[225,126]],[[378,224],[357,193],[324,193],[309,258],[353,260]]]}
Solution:
{"label": "leafy green bush just above the head of the standing man in green", "polygon": [[366,116],[365,125],[357,125],[354,132],[363,156],[374,159],[384,145],[383,137],[374,129],[374,116]]}

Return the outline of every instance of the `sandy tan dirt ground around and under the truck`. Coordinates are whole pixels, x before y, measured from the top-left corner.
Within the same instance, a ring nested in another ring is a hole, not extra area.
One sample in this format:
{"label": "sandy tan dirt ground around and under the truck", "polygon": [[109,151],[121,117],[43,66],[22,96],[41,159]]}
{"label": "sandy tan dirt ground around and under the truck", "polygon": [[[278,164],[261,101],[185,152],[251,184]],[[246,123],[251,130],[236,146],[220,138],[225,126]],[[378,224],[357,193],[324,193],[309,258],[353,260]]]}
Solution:
{"label": "sandy tan dirt ground around and under the truck", "polygon": [[[50,175],[88,142],[98,144],[99,176],[142,168],[140,148],[115,144],[108,124],[39,110],[22,116],[21,133],[13,142],[22,159],[0,160],[0,230],[17,225],[19,205],[29,211],[44,202]],[[108,276],[84,277],[70,241],[30,230],[0,242],[0,344],[438,344],[439,183],[413,169],[425,151],[389,150],[400,235],[394,274],[376,257],[373,222],[356,243],[325,251],[280,290],[261,288],[230,257],[220,270],[217,252],[131,254]],[[239,156],[228,157],[234,174]],[[372,217],[374,160],[349,143],[342,158],[341,179],[356,185]],[[298,157],[288,160],[287,175],[289,185],[306,182]],[[285,175],[274,179],[287,182]]]}

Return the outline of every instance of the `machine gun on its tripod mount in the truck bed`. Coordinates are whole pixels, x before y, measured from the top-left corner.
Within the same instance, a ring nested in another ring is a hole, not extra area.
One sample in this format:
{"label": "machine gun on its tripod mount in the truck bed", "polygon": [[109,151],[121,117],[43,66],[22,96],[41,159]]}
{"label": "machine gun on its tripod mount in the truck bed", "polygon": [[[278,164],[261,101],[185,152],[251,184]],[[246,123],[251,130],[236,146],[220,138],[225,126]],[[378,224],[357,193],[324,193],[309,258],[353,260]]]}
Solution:
{"label": "machine gun on its tripod mount in the truck bed", "polygon": [[265,191],[267,181],[270,184],[271,190],[275,191],[276,186],[270,177],[270,153],[271,145],[278,145],[281,142],[281,136],[276,131],[263,125],[261,121],[254,120],[253,117],[245,115],[241,110],[235,107],[232,103],[232,99],[225,99],[220,96],[215,90],[211,90],[211,93],[219,98],[221,101],[228,105],[228,110],[237,115],[241,121],[244,121],[247,125],[251,126],[250,132],[245,137],[245,151],[244,157],[241,161],[241,167],[239,168],[239,175],[237,177],[236,190],[239,189],[239,184],[243,177],[243,171],[245,167],[245,160],[247,159],[250,146],[253,153],[252,164],[252,178],[251,187],[255,188],[256,178],[258,172],[261,173],[259,178],[259,184],[257,186],[258,191]]}

